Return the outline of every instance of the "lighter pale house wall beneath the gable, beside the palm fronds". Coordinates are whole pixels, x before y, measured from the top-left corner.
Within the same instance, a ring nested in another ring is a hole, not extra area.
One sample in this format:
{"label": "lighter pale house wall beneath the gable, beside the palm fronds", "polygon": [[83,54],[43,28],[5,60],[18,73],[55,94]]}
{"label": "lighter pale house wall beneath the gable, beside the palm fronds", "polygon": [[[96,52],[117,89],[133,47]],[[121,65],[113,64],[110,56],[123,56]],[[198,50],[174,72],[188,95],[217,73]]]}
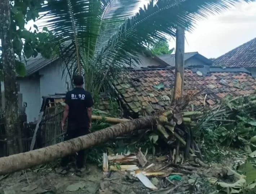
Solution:
{"label": "lighter pale house wall beneath the gable, beside the palm fronds", "polygon": [[[62,78],[62,66],[59,60],[39,70],[40,95],[65,93],[67,91],[66,78]],[[43,99],[41,98],[41,102]]]}

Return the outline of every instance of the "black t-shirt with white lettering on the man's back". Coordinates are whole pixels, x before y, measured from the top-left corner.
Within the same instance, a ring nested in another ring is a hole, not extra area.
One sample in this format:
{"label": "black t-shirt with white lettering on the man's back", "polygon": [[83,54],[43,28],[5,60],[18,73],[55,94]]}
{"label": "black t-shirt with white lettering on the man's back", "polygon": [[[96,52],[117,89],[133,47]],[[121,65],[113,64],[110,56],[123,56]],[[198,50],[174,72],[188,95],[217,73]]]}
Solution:
{"label": "black t-shirt with white lettering on the man's back", "polygon": [[91,93],[85,91],[84,88],[74,88],[66,93],[65,103],[69,105],[68,126],[88,127],[87,108],[93,106]]}

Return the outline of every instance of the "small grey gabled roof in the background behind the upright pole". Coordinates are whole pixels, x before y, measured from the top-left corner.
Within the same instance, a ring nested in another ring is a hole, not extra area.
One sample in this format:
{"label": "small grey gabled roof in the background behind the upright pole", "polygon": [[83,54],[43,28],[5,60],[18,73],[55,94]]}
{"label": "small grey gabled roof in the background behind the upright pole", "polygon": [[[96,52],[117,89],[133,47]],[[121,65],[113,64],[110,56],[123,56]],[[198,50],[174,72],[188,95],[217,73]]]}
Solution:
{"label": "small grey gabled roof in the background behind the upright pole", "polygon": [[[175,67],[175,54],[171,55],[157,55],[159,59],[164,61],[165,63],[169,64],[171,67]],[[203,60],[206,64],[211,65],[212,61],[204,57],[203,55],[200,55],[198,52],[186,52],[184,54],[184,61],[190,59],[191,57],[197,57],[199,60]]]}

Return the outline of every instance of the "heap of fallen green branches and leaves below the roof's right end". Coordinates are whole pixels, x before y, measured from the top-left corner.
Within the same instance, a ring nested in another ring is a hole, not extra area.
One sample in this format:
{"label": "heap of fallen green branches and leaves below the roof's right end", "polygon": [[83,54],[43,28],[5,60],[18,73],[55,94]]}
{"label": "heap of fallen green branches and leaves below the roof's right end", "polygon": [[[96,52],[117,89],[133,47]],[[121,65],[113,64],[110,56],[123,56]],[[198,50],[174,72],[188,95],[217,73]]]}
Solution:
{"label": "heap of fallen green branches and leaves below the roof's right end", "polygon": [[208,111],[195,127],[195,136],[203,140],[208,157],[223,157],[222,146],[242,148],[251,153],[256,149],[256,97],[227,96],[215,111]]}

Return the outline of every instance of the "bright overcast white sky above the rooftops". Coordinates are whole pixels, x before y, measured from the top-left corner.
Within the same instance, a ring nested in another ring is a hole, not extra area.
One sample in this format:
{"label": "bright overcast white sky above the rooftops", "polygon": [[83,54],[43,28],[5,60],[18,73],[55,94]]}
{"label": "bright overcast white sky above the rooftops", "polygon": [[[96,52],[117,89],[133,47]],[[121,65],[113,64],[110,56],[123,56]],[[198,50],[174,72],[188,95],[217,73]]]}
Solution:
{"label": "bright overcast white sky above the rooftops", "polygon": [[[30,26],[33,26],[32,21],[27,28]],[[186,33],[185,52],[198,51],[208,58],[218,57],[255,37],[256,2],[243,2],[233,9],[199,21],[192,33]],[[175,41],[172,40],[169,46],[175,47]]]}

